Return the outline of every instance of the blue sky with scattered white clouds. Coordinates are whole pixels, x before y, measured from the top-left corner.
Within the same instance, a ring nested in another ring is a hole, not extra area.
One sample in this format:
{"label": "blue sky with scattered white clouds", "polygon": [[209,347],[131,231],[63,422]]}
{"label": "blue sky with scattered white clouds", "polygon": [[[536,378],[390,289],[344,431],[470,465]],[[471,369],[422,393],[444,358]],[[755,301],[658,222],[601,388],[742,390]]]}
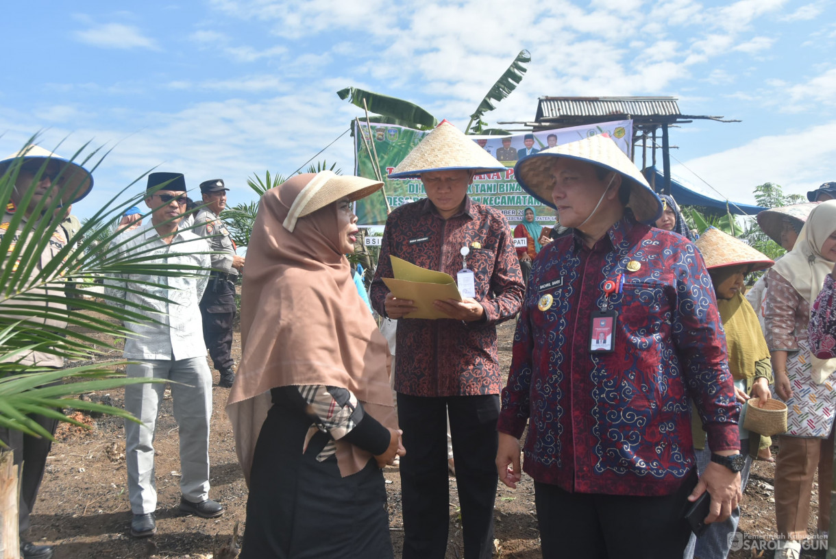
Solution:
{"label": "blue sky with scattered white clouds", "polygon": [[[115,9],[120,6],[126,9]],[[0,154],[38,130],[69,155],[113,151],[96,205],[152,167],[190,188],[222,177],[230,202],[248,176],[287,175],[361,111],[354,85],[421,104],[463,128],[526,48],[528,74],[487,121],[533,119],[543,95],[670,95],[695,121],[671,131],[674,171],[733,201],[772,181],[804,193],[836,180],[836,7],[740,0],[191,0],[16,2],[4,7],[7,74]],[[345,135],[317,160],[353,170]],[[686,169],[687,168],[687,169]],[[696,173],[696,175],[692,174]],[[139,188],[137,190],[140,190]]]}

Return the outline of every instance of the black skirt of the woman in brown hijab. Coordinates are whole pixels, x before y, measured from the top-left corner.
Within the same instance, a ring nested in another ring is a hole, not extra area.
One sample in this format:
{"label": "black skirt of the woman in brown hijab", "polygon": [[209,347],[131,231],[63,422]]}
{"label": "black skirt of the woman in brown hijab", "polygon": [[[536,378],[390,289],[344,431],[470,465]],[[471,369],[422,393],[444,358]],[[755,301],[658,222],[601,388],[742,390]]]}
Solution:
{"label": "black skirt of the woman in brown hijab", "polygon": [[374,459],[342,477],[334,456],[316,456],[328,442],[311,420],[276,402],[258,434],[239,559],[391,559],[383,472]]}

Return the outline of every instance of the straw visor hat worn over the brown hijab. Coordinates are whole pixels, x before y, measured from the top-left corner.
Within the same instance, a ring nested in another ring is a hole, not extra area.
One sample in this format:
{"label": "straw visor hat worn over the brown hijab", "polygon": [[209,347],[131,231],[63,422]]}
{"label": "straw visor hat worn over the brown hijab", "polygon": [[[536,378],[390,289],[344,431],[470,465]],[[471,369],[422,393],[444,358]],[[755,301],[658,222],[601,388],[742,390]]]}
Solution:
{"label": "straw visor hat worn over the brown hijab", "polygon": [[383,183],[378,180],[364,179],[361,176],[337,175],[330,170],[321,170],[315,175],[314,173],[296,175],[285,182],[291,180],[307,182],[307,185],[293,200],[288,216],[282,223],[290,232],[293,232],[296,221],[300,217],[308,216],[319,208],[324,208],[345,197],[348,197],[349,201],[359,200],[379,191],[383,186]]}

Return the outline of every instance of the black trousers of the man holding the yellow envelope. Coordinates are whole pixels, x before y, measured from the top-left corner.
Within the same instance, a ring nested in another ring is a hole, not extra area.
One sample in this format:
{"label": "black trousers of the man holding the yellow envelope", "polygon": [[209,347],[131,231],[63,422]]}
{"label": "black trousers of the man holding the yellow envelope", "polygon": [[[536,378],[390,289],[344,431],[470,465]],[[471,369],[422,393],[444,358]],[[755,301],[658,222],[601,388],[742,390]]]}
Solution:
{"label": "black trousers of the man holding the yellow envelope", "polygon": [[465,559],[490,559],[497,497],[499,396],[424,398],[398,394],[406,455],[400,459],[403,559],[443,559],[450,526],[447,414],[461,505]]}

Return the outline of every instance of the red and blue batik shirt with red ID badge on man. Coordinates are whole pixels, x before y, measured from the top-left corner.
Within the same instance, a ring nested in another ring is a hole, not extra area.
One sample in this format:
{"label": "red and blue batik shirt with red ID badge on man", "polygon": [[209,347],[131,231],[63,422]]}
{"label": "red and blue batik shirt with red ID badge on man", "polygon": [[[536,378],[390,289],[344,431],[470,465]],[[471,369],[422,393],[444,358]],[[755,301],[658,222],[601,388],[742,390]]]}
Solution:
{"label": "red and blue batik shirt with red ID badge on man", "polygon": [[[614,351],[590,353],[602,305],[618,313]],[[668,495],[696,467],[692,400],[711,450],[737,450],[739,406],[696,246],[625,216],[591,249],[576,235],[543,247],[498,423],[520,438],[528,422],[524,470],[567,491]]]}

